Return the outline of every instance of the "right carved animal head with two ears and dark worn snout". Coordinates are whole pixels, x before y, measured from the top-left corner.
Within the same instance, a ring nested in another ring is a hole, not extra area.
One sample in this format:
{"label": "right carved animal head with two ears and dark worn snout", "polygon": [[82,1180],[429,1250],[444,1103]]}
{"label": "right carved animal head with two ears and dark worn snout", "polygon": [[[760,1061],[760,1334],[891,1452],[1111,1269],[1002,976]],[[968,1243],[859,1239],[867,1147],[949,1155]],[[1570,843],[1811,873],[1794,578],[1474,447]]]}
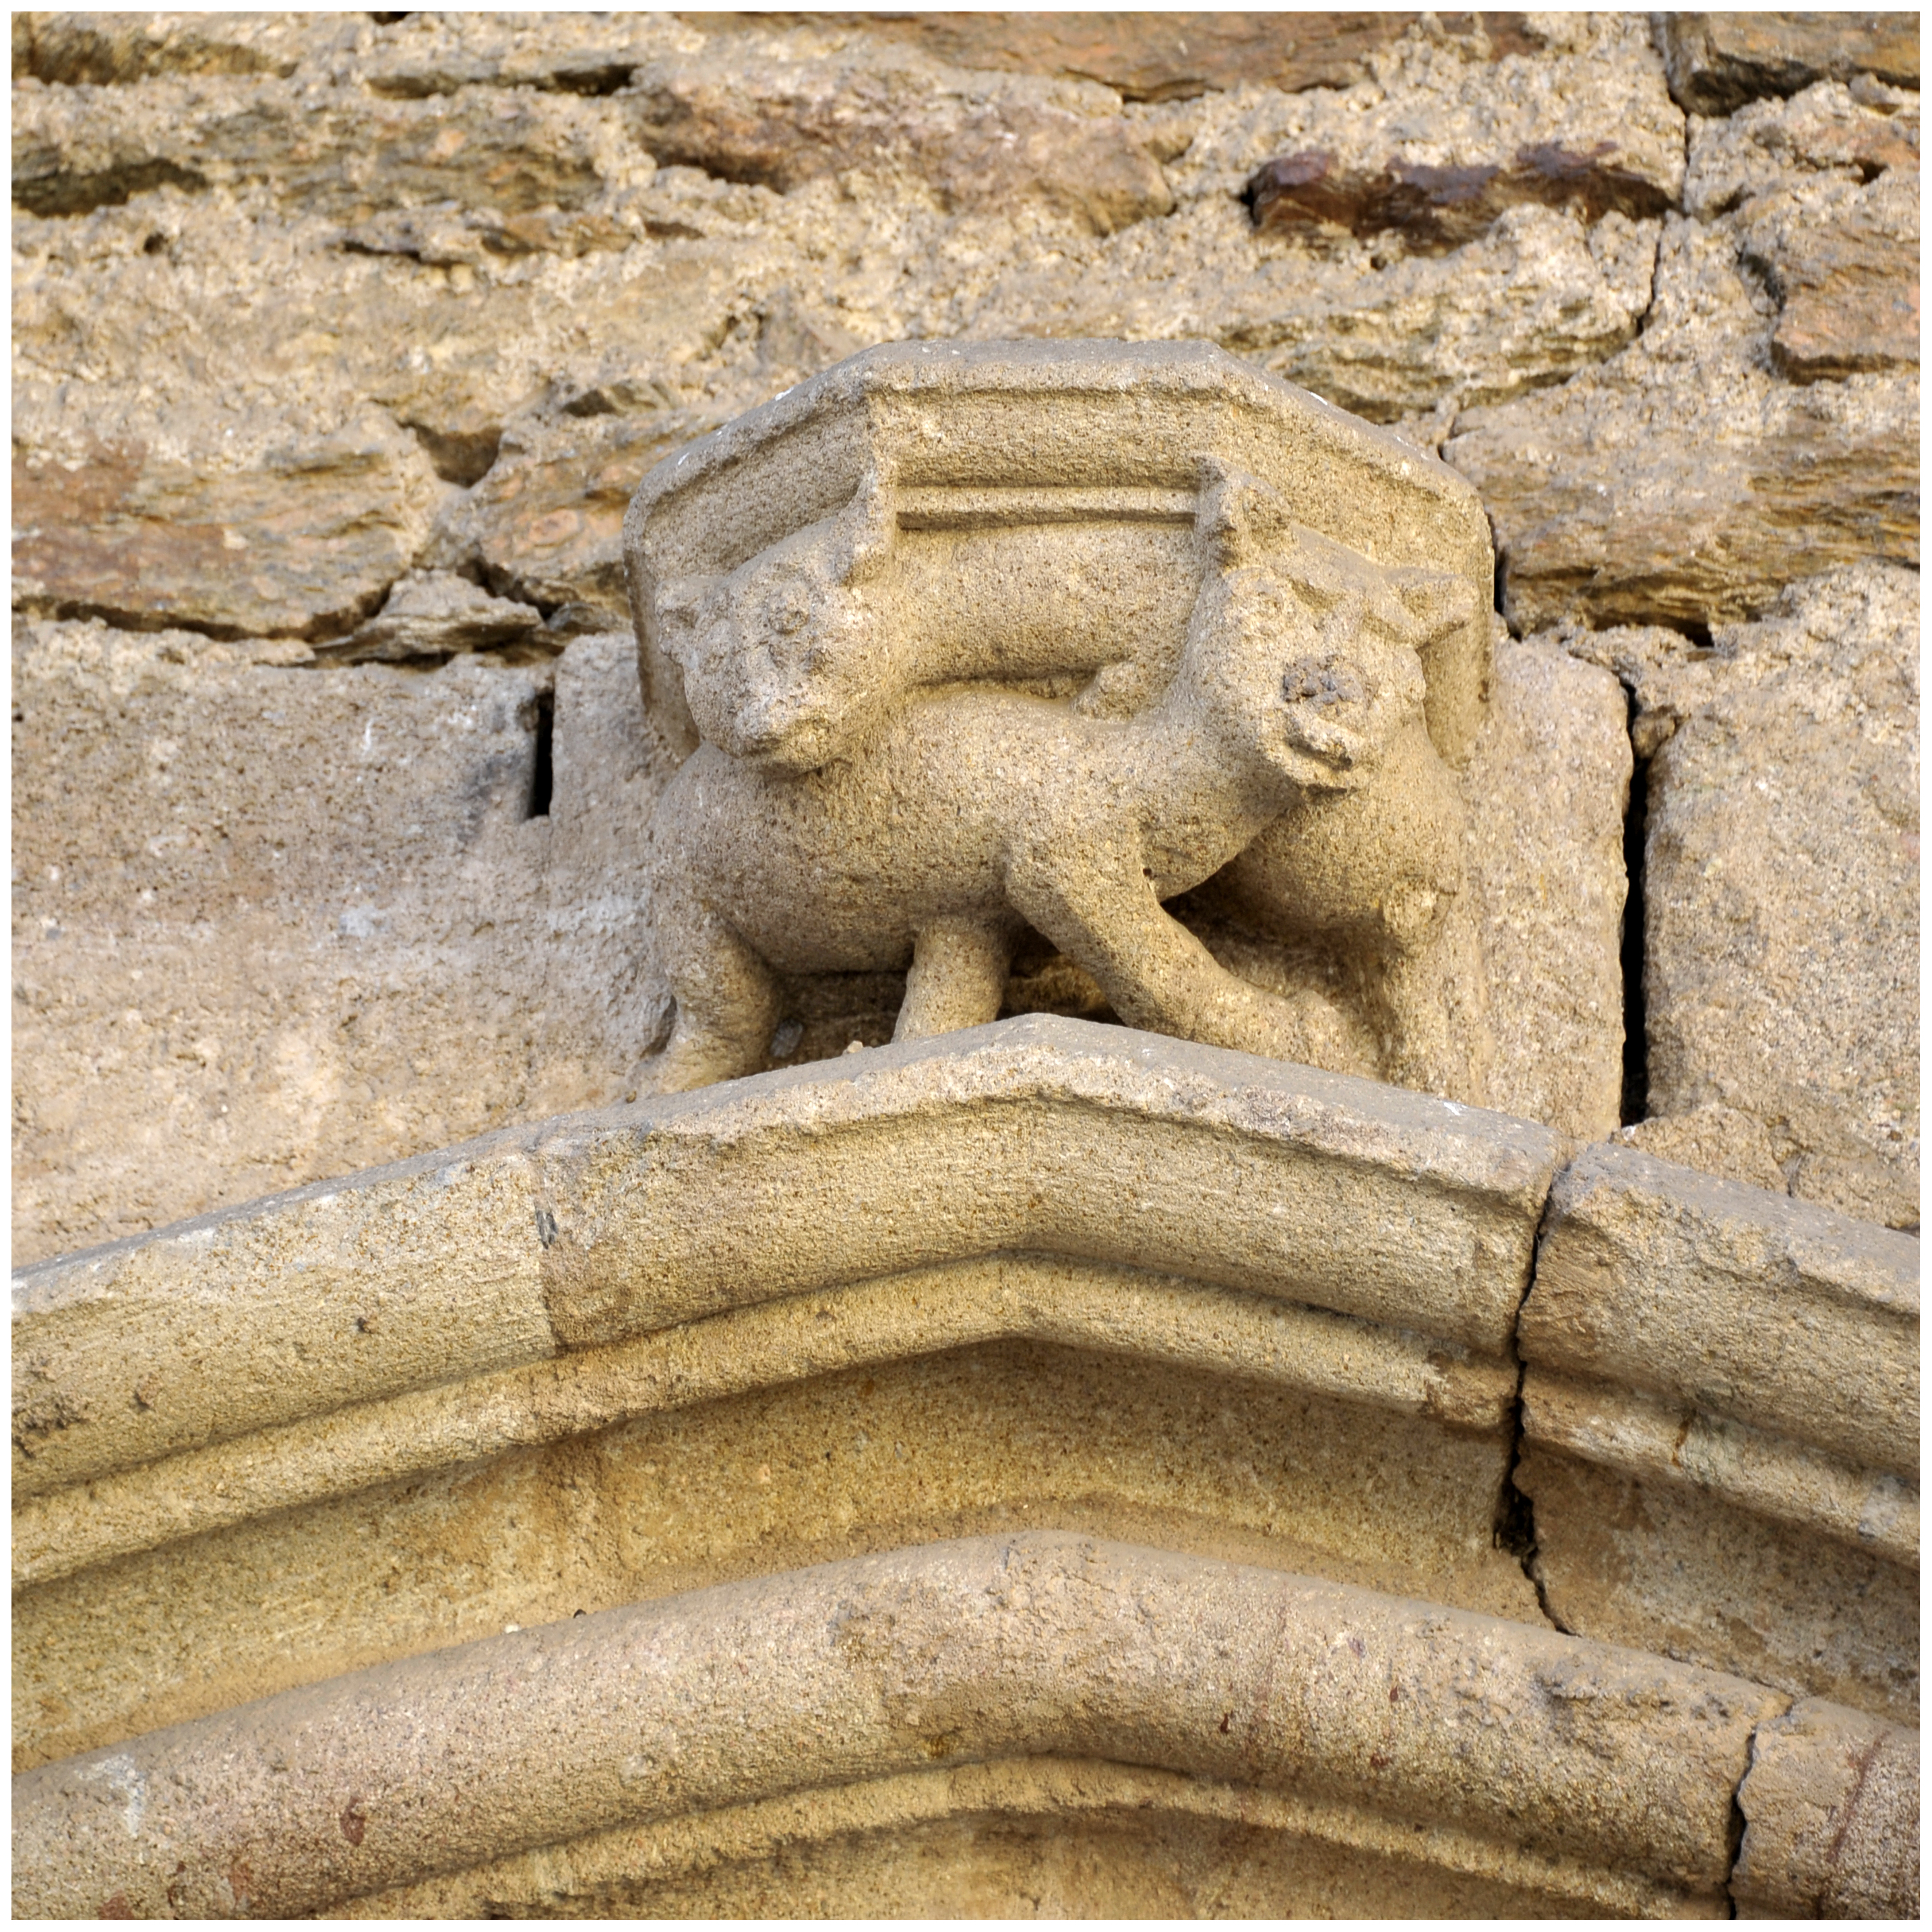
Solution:
{"label": "right carved animal head with two ears and dark worn snout", "polygon": [[1420,717],[1422,657],[1470,620],[1474,587],[1331,543],[1238,471],[1209,473],[1196,535],[1188,661],[1221,728],[1302,788],[1360,784]]}

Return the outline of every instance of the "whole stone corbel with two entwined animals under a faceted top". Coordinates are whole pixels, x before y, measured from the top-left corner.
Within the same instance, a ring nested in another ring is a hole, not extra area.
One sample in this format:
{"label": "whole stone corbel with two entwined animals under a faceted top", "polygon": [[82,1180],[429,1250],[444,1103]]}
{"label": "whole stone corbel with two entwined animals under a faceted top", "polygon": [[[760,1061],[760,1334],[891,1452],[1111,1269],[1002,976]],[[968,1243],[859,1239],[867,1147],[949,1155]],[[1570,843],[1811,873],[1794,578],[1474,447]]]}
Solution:
{"label": "whole stone corbel with two entwined animals under a faceted top", "polygon": [[871,350],[661,464],[626,527],[676,1001],[657,1090],[763,1063],[775,974],[999,1014],[1028,927],[1121,1018],[1310,1059],[1163,900],[1347,964],[1385,1078],[1482,1101],[1451,761],[1490,549],[1441,466],[1217,350]]}

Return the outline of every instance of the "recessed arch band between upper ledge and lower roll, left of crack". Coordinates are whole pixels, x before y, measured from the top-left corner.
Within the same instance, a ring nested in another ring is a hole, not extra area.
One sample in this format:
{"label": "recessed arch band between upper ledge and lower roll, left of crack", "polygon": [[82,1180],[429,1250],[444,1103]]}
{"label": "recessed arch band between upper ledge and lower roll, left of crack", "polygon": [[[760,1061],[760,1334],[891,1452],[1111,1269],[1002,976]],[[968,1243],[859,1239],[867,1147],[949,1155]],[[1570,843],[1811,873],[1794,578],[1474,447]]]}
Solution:
{"label": "recessed arch band between upper ledge and lower roll, left of crack", "polygon": [[[1159,1347],[1177,1312],[1219,1362]],[[1538,1623],[1495,1548],[1507,1434],[1271,1378],[1265,1320],[989,1262],[243,1437],[162,1464],[178,1490],[106,1478],[133,1551],[35,1536],[81,1567],[15,1598],[15,1766],[506,1625],[1037,1524]],[[1335,1341],[1362,1364],[1360,1327]],[[29,1534],[91,1526],[83,1495],[44,1503],[64,1522]]]}

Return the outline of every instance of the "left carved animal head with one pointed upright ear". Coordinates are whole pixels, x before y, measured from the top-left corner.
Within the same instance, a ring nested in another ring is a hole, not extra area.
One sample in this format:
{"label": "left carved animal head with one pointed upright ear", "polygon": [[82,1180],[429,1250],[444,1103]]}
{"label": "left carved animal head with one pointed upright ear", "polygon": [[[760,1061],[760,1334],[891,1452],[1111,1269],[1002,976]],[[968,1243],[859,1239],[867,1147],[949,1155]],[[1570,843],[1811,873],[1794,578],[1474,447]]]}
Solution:
{"label": "left carved animal head with one pointed upright ear", "polygon": [[676,655],[703,738],[779,771],[815,771],[864,738],[891,699],[867,585],[895,533],[871,471],[848,508],[697,591]]}

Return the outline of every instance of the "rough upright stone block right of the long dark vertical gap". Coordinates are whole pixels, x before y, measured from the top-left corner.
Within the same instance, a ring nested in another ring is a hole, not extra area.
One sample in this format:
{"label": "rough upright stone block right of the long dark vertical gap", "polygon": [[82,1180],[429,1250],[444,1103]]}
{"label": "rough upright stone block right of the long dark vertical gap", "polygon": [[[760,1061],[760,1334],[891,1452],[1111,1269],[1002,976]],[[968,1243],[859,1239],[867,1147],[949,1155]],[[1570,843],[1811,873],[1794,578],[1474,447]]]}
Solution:
{"label": "rough upright stone block right of the long dark vertical gap", "polygon": [[1727,1107],[1791,1190],[1918,1225],[1918,578],[1793,585],[1712,649],[1577,636],[1650,763],[1650,1111]]}

